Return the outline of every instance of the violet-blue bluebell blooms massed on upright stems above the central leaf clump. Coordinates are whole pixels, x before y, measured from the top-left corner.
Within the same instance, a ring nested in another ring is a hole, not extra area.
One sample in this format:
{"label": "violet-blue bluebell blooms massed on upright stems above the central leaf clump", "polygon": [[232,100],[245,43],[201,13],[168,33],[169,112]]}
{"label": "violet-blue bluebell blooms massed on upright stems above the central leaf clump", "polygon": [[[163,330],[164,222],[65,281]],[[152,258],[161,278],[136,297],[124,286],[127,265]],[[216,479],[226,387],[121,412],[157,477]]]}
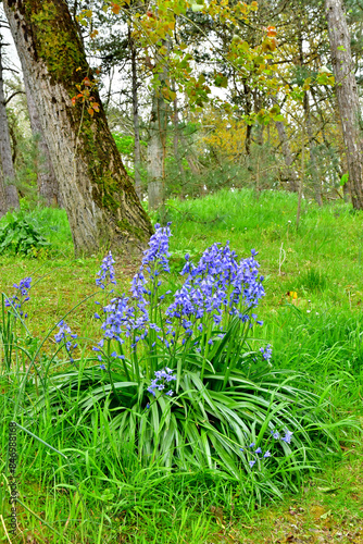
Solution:
{"label": "violet-blue bluebell blooms massed on upright stems above the central leaf clump", "polygon": [[[148,341],[148,350],[158,343],[171,351],[173,346],[185,345],[195,336],[195,349],[201,351],[224,337],[228,321],[234,318],[242,323],[249,322],[250,326],[253,322],[262,324],[253,313],[265,295],[263,276],[259,275],[260,265],[255,260],[258,254],[252,249],[251,257],[238,260],[228,242],[225,246],[213,244],[209,247],[197,265],[188,254],[185,256],[182,271],[182,275],[186,276],[185,283],[174,294],[174,300],[160,322],[161,301],[171,295],[171,290],[162,294],[159,290],[162,274],[170,272],[171,236],[171,223],[164,227],[155,225],[140,269],[132,281],[130,295],[112,298],[102,308],[103,317],[101,312],[95,313],[102,321],[103,337],[93,347],[100,362],[104,363],[102,359],[109,357],[104,351],[104,343],[108,353],[111,342],[122,345],[126,341],[130,354],[135,354],[141,341]],[[101,286],[104,286],[109,276],[115,283],[113,262],[110,252],[103,259],[99,272],[97,282]],[[213,329],[218,331],[213,331],[211,335]],[[263,355],[267,356],[268,349],[270,346]]]}

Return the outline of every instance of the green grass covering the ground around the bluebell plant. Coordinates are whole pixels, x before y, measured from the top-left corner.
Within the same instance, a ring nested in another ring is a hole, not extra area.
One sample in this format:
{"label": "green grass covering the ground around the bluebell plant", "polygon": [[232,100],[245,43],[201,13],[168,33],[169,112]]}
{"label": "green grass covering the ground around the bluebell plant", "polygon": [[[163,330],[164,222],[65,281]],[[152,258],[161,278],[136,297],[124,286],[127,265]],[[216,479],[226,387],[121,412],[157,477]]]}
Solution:
{"label": "green grass covering the ground around the bluebell plant", "polygon": [[[133,450],[112,435],[107,406],[95,403],[92,424],[84,428],[76,405],[55,419],[46,405],[34,422],[24,409],[20,423],[68,457],[67,462],[18,432],[18,490],[25,505],[18,507],[18,518],[29,542],[363,542],[359,430],[363,422],[363,217],[343,203],[318,209],[305,202],[297,231],[296,209],[293,195],[277,191],[263,193],[259,201],[252,191],[242,190],[168,202],[165,219],[173,221],[174,232],[172,283],[178,285],[185,252],[197,258],[212,243],[227,239],[241,257],[251,248],[259,250],[266,289],[259,309],[265,322],[260,336],[273,344],[275,369],[309,372],[316,384],[326,386],[337,423],[347,417],[356,421],[355,426],[337,428],[340,454],[327,450],[324,470],[308,471],[295,494],[286,490],[283,502],[259,505],[237,483],[213,472],[193,470],[182,477],[163,471],[158,462],[140,467]],[[0,257],[0,289],[11,294],[21,277],[43,276],[32,289],[27,308],[32,334],[43,337],[73,306],[95,293],[93,279],[103,256],[73,258],[62,210],[33,214],[52,243],[52,252],[37,260]],[[125,288],[137,265],[117,260],[117,277]],[[91,319],[93,310],[90,298],[67,318],[89,347],[100,337]],[[47,353],[54,350],[52,342],[46,346]],[[14,398],[7,394],[8,378],[2,374],[4,422],[11,418]],[[7,425],[1,441],[3,470]],[[3,475],[3,516],[8,515],[5,487]],[[85,523],[86,519],[92,522]],[[7,542],[5,535],[1,537]]]}

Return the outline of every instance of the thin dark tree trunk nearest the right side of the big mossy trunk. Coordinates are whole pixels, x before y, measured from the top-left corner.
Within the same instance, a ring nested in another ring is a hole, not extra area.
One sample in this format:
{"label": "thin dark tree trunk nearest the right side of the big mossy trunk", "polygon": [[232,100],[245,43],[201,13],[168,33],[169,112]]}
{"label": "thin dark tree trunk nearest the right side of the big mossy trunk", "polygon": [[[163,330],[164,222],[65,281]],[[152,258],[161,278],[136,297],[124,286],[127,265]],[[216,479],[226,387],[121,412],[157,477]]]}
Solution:
{"label": "thin dark tree trunk nearest the right side of the big mossy trunk", "polygon": [[135,180],[135,190],[137,196],[141,199],[142,190],[141,190],[141,148],[140,148],[140,121],[139,121],[139,99],[137,94],[137,59],[136,59],[136,47],[135,40],[132,36],[132,28],[128,25],[128,42],[132,50],[132,73],[133,73],[133,120],[134,120],[134,180]]}

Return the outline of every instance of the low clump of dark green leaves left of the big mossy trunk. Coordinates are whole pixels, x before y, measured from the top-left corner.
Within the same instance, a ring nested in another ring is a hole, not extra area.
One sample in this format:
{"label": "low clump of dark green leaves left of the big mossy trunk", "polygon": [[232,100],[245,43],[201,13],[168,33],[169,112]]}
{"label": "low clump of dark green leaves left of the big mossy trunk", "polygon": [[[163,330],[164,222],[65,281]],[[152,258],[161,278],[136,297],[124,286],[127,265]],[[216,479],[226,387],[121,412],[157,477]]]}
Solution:
{"label": "low clump of dark green leaves left of the big mossy trunk", "polygon": [[0,223],[0,255],[37,257],[50,246],[36,223],[23,212],[10,213]]}

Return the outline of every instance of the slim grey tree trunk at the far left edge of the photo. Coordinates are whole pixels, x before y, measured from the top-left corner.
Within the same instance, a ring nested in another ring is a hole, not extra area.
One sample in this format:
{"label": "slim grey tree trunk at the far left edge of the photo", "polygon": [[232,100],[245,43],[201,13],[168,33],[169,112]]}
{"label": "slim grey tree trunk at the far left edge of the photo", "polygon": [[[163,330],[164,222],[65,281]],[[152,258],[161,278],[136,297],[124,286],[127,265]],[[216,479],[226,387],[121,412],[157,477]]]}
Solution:
{"label": "slim grey tree trunk at the far left edge of the photo", "polygon": [[0,36],[0,159],[3,174],[3,194],[4,200],[0,208],[0,213],[3,215],[10,208],[18,208],[18,195],[14,185],[15,171],[10,145],[10,132],[5,107],[5,96],[2,77],[2,46]]}

